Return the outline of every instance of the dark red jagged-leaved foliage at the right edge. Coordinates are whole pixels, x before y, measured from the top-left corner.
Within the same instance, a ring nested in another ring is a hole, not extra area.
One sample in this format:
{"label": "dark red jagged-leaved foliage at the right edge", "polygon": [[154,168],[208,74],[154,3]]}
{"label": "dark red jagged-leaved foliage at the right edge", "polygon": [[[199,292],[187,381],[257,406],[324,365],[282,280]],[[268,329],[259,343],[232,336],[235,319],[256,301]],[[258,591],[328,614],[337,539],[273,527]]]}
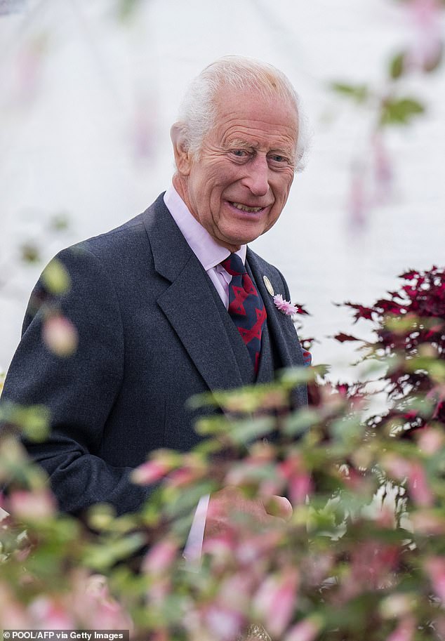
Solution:
{"label": "dark red jagged-leaved foliage at the right edge", "polygon": [[[388,291],[371,307],[345,303],[359,319],[376,323],[376,341],[368,343],[373,357],[387,359],[392,366],[381,379],[387,382],[392,409],[383,417],[373,417],[369,425],[381,428],[397,418],[404,430],[424,427],[429,421],[445,425],[445,392],[430,376],[434,360],[445,359],[445,270],[432,267],[400,275],[399,291]],[[339,333],[340,342],[357,340]],[[413,410],[413,397],[426,397],[432,409]]]}

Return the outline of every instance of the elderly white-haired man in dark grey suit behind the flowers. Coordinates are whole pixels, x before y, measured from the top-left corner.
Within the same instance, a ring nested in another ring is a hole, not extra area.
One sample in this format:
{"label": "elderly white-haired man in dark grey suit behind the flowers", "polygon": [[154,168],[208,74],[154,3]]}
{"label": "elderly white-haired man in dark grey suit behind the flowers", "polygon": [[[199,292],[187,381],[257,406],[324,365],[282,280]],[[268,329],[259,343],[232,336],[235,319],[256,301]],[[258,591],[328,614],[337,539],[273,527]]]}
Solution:
{"label": "elderly white-haired man in dark grey suit behind the flowers", "polygon": [[[140,216],[60,252],[65,293],[54,297],[45,278],[36,285],[2,399],[50,409],[51,435],[27,448],[62,510],[136,510],[150,488],[132,484],[131,470],[153,449],[199,439],[187,399],[303,364],[272,298],[289,298],[286,282],[246,246],[286,203],[303,154],[299,121],[295,91],[274,67],[213,62],[171,129],[173,184]],[[54,305],[79,334],[65,358],[42,340]],[[223,499],[219,514],[237,497]]]}

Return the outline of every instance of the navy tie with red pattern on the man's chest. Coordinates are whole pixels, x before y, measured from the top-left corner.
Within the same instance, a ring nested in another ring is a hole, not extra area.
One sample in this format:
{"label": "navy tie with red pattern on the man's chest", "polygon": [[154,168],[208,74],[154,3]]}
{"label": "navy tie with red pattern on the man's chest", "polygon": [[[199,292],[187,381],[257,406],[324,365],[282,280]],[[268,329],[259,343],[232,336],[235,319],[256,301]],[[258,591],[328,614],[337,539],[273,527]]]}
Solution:
{"label": "navy tie with red pattern on the man's chest", "polygon": [[258,374],[261,334],[267,317],[263,299],[236,253],[231,253],[221,265],[232,276],[229,284],[229,314],[248,349],[255,374]]}

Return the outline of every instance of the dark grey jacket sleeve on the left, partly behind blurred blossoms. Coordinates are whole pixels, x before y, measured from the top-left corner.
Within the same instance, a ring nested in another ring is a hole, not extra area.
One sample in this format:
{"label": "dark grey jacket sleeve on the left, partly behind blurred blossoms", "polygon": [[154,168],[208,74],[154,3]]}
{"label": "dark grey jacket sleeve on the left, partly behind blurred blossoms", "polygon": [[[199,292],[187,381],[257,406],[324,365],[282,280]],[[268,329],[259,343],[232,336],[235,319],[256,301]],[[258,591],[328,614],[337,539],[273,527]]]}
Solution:
{"label": "dark grey jacket sleeve on the left, partly behind blurred blossoms", "polygon": [[[102,433],[124,371],[114,283],[100,260],[79,246],[62,251],[50,265],[66,270],[67,289],[51,293],[51,267],[36,284],[1,401],[43,404],[51,412],[48,439],[27,440],[25,446],[48,473],[63,511],[77,514],[100,502],[111,503],[119,514],[137,510],[150,489],[131,482],[130,468],[112,467],[100,457]],[[43,337],[48,318],[58,314],[77,333],[71,355],[56,355]]]}

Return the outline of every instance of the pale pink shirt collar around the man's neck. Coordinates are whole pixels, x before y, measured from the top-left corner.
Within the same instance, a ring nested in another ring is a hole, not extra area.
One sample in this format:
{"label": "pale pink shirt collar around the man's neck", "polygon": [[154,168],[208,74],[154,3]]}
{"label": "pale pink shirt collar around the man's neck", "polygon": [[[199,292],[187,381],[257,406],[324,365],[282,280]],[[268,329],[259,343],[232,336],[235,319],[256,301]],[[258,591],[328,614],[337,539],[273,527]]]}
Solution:
{"label": "pale pink shirt collar around the man's neck", "polygon": [[[208,271],[212,267],[218,265],[227,256],[230,256],[230,251],[225,247],[218,245],[218,243],[211,237],[206,229],[197,221],[185,202],[182,200],[173,185],[168,187],[164,194],[164,203],[168,211],[170,211],[175,220],[176,225],[180,228],[182,236],[192,249],[193,253],[197,256],[199,262]],[[238,256],[246,262],[246,245],[241,245],[237,251]]]}

